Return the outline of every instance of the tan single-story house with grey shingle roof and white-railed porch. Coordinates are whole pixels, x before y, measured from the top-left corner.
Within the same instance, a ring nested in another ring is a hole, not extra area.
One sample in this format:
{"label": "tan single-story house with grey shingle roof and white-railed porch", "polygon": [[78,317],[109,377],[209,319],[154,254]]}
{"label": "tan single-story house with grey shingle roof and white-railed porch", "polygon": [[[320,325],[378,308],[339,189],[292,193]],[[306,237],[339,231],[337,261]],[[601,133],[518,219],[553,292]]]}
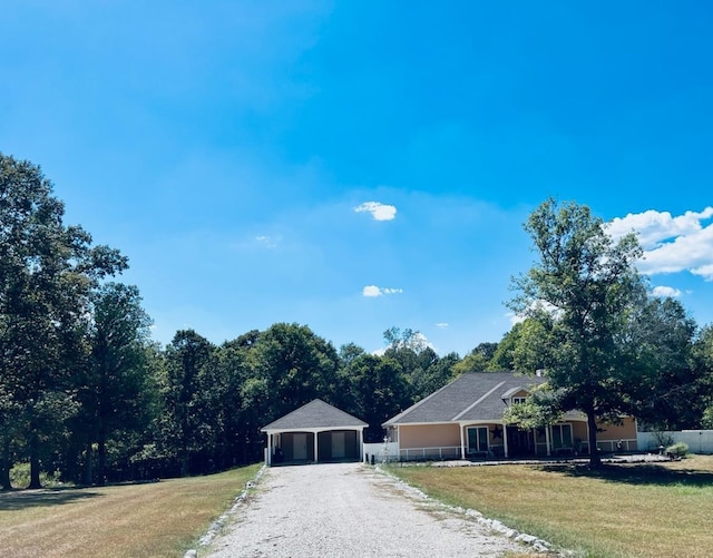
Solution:
{"label": "tan single-story house with grey shingle roof and white-railed porch", "polygon": [[[584,413],[572,411],[556,424],[531,430],[502,420],[508,405],[525,401],[533,386],[545,381],[514,372],[462,374],[382,425],[402,460],[588,453]],[[636,450],[635,419],[622,417],[621,424],[599,424],[597,447]]]}

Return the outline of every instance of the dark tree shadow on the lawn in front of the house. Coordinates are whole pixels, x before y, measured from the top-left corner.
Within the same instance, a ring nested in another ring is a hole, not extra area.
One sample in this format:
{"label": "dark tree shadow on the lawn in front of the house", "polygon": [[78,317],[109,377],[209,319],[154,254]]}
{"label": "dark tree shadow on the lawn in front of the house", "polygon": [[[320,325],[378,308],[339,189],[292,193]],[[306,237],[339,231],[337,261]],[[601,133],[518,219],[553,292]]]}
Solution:
{"label": "dark tree shadow on the lawn in front of the house", "polygon": [[545,466],[544,471],[599,479],[626,484],[713,487],[713,473],[696,469],[668,469],[661,464],[603,464],[597,469],[586,466]]}

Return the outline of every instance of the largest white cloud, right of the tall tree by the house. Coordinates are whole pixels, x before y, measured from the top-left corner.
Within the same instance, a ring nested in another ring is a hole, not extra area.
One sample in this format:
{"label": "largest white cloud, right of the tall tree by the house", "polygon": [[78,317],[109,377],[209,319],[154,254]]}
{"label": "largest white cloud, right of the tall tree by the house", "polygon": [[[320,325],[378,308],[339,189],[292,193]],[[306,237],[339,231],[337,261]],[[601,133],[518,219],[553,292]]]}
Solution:
{"label": "largest white cloud, right of the tall tree by the house", "polygon": [[672,217],[668,212],[647,211],[615,218],[608,224],[614,238],[632,231],[638,235],[644,257],[638,268],[646,275],[687,271],[713,281],[713,207]]}

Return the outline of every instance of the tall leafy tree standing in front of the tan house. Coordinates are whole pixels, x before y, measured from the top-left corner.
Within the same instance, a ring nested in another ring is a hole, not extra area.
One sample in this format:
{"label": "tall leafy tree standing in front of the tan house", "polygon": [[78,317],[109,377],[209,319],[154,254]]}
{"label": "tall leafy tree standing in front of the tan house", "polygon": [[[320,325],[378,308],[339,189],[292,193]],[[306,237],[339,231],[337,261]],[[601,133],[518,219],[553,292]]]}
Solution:
{"label": "tall leafy tree standing in front of the tan house", "polygon": [[[516,356],[519,370],[545,369],[560,410],[587,415],[589,462],[600,463],[597,421],[617,420],[627,405],[628,316],[645,293],[635,268],[642,249],[632,233],[614,241],[589,208],[548,199],[525,225],[539,256],[512,280],[509,307],[530,317],[538,339]],[[530,337],[531,339],[531,337]]]}

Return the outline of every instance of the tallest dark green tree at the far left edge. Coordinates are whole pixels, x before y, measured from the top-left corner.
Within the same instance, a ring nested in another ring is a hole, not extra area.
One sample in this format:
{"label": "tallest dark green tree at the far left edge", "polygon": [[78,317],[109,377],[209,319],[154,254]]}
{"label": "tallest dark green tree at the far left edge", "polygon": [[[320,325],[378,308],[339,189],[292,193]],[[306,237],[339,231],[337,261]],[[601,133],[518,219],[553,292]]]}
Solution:
{"label": "tallest dark green tree at the far left edge", "polygon": [[0,431],[25,441],[31,488],[40,487],[42,450],[76,409],[69,378],[80,365],[89,293],[127,265],[62,218],[40,168],[0,154],[0,384],[14,407],[0,413],[12,423]]}

